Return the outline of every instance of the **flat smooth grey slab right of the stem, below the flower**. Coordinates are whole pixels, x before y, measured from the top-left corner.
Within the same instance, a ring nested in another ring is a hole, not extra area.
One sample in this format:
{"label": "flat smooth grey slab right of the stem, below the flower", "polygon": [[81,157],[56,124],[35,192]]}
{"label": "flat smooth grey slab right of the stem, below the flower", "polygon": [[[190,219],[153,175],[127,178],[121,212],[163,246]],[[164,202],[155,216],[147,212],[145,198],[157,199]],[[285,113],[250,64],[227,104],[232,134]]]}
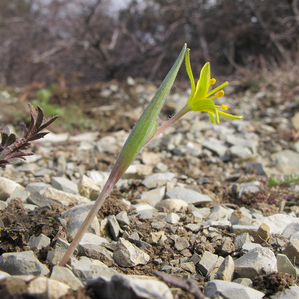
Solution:
{"label": "flat smooth grey slab right of the stem, below the flower", "polygon": [[173,189],[167,191],[166,197],[181,199],[187,202],[188,204],[193,204],[195,206],[202,205],[212,201],[212,199],[208,195],[204,195],[194,190],[190,190],[182,187],[174,187]]}

